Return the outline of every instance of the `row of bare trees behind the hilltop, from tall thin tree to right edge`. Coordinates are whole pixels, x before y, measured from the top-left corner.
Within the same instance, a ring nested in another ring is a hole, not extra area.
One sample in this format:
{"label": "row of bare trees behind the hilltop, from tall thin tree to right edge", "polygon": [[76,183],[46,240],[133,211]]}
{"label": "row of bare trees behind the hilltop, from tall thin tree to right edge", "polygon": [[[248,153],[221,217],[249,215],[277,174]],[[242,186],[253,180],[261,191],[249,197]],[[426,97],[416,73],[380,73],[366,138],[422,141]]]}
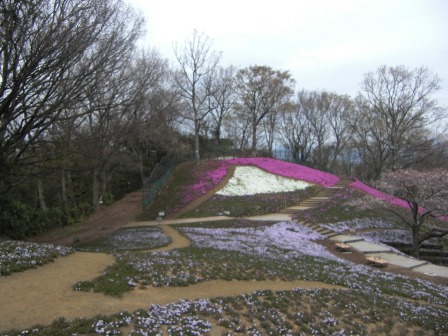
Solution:
{"label": "row of bare trees behind the hilltop, from tall thin tree to right edge", "polygon": [[440,78],[426,67],[381,66],[352,98],[324,90],[294,92],[288,71],[220,67],[212,41],[194,32],[175,49],[175,87],[185,98],[195,155],[199,139],[224,136],[235,149],[273,155],[336,174],[376,180],[385,170],[446,165],[447,110],[434,99]]}

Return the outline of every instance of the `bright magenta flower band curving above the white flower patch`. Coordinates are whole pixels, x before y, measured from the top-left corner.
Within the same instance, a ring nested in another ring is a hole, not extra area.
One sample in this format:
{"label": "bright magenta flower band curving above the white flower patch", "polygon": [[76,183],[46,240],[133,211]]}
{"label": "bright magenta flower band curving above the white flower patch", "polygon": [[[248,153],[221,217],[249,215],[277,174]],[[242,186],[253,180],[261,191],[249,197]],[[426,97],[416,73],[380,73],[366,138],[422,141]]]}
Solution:
{"label": "bright magenta flower band curving above the white flower patch", "polygon": [[339,181],[339,177],[336,175],[276,159],[240,158],[226,161],[232,165],[256,166],[275,175],[315,183],[325,188],[331,187]]}

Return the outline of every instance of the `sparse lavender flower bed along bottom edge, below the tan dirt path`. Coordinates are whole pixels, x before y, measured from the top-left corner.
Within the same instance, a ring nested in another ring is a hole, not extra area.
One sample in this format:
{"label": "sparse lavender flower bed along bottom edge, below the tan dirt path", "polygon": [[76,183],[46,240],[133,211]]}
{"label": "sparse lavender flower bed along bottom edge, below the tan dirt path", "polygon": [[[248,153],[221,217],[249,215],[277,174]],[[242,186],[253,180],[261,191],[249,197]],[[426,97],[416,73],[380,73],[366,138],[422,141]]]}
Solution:
{"label": "sparse lavender flower bed along bottom edge, below the tan dirt path", "polygon": [[[66,321],[23,335],[446,335],[448,313],[374,291],[258,290],[232,297],[152,304],[132,314]],[[300,330],[300,333],[297,332]],[[397,332],[396,332],[397,331]]]}

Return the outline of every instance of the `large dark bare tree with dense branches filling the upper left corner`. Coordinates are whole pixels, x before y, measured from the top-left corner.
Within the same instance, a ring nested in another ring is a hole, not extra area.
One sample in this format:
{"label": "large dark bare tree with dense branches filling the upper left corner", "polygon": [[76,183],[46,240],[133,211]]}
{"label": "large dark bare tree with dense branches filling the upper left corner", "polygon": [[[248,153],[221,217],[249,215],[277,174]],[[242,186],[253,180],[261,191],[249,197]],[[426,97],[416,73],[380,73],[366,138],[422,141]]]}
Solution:
{"label": "large dark bare tree with dense branches filling the upper left corner", "polygon": [[107,50],[134,41],[143,20],[120,0],[0,2],[0,183],[62,112],[75,109],[110,64]]}

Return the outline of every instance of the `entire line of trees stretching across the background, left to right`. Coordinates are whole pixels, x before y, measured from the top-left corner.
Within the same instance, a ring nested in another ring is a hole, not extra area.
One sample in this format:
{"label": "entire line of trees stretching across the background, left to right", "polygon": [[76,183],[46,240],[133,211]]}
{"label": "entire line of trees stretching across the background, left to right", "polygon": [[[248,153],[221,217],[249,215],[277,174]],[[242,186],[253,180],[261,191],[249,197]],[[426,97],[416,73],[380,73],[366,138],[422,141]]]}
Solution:
{"label": "entire line of trees stretching across the background, left to right", "polygon": [[[351,98],[301,90],[267,65],[220,64],[211,39],[137,46],[144,18],[122,0],[0,3],[0,234],[66,225],[141,187],[162,157],[286,148],[302,164],[375,179],[446,164],[446,110],[428,69],[379,68]],[[443,124],[440,124],[443,125]]]}

